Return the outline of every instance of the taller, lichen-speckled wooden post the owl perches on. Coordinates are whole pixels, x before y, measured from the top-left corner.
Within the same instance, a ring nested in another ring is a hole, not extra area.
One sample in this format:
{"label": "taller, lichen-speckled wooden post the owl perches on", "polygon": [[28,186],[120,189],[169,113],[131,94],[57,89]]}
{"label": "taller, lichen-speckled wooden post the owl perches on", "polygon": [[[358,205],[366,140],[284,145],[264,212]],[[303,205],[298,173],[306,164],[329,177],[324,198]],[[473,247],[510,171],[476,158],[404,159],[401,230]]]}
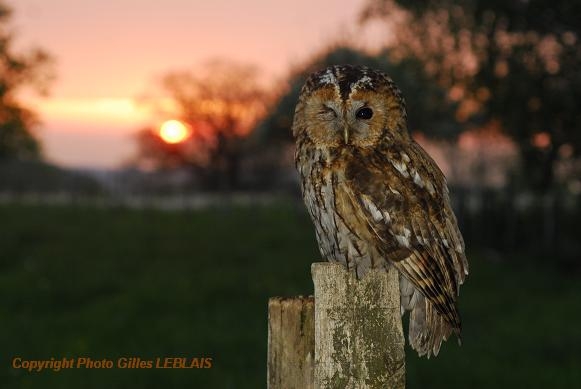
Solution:
{"label": "taller, lichen-speckled wooden post the owl perches on", "polygon": [[361,280],[337,263],[314,263],[315,388],[405,387],[395,269]]}

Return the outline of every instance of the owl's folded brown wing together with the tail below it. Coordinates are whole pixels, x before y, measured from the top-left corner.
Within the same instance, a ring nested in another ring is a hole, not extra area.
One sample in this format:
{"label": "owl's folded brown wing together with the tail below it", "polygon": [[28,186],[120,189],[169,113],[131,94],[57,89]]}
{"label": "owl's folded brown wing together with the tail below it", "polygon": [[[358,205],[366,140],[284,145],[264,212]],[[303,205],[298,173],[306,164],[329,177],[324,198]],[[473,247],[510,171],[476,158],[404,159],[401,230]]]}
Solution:
{"label": "owl's folded brown wing together with the tail below it", "polygon": [[415,142],[359,157],[346,168],[345,197],[401,274],[411,346],[437,355],[442,340],[460,334],[456,296],[468,274],[444,175]]}

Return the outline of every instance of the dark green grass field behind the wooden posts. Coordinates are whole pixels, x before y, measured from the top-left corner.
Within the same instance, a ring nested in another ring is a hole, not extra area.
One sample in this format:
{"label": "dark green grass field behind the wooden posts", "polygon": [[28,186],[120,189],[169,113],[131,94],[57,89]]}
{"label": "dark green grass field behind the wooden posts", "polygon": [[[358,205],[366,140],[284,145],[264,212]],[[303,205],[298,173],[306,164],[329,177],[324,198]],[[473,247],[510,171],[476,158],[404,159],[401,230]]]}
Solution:
{"label": "dark green grass field behind the wooden posts", "polygon": [[[407,349],[409,388],[581,382],[581,283],[469,252],[463,346]],[[162,212],[0,206],[0,386],[262,388],[269,296],[310,294],[318,258],[291,206]],[[29,373],[12,358],[209,356],[212,369]]]}

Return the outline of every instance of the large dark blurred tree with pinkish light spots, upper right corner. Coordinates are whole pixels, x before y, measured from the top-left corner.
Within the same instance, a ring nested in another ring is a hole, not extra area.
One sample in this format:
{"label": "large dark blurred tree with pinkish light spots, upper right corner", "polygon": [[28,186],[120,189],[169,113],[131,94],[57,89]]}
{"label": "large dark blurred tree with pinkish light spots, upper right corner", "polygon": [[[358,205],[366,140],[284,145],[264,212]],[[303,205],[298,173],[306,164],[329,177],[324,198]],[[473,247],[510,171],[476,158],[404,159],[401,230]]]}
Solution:
{"label": "large dark blurred tree with pinkish light spots, upper right corner", "polygon": [[526,185],[555,182],[559,151],[581,155],[581,3],[369,0],[390,25],[391,59],[413,58],[458,101],[459,122],[500,120]]}

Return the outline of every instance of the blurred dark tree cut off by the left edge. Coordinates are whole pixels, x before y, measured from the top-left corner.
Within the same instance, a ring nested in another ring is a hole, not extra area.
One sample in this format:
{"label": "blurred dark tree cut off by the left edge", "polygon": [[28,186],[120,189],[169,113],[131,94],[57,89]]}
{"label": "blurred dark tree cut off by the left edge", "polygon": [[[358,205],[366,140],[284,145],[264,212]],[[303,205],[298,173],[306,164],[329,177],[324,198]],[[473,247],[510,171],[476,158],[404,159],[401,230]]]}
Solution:
{"label": "blurred dark tree cut off by the left edge", "polygon": [[12,11],[0,0],[0,161],[40,156],[40,144],[33,133],[36,115],[18,98],[25,86],[44,93],[51,80],[50,57],[40,49],[16,53],[10,32]]}

